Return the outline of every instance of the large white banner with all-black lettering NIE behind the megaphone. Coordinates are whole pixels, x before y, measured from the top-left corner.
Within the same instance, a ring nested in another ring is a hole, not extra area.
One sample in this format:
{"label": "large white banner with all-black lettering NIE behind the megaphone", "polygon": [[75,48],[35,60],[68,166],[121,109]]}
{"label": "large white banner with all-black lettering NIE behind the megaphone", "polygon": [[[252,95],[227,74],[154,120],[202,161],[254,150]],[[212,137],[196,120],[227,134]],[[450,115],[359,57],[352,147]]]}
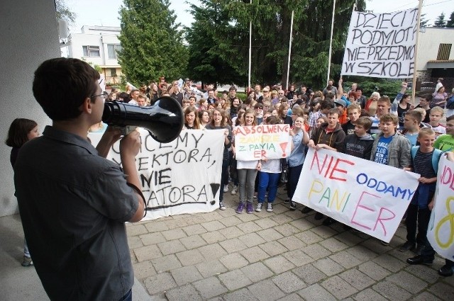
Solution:
{"label": "large white banner with all-black lettering NIE behind the megaphone", "polygon": [[[147,201],[144,220],[219,208],[224,130],[184,130],[170,143],[153,140],[140,130],[135,165]],[[96,145],[101,134],[90,133]],[[121,164],[119,142],[107,156]]]}

